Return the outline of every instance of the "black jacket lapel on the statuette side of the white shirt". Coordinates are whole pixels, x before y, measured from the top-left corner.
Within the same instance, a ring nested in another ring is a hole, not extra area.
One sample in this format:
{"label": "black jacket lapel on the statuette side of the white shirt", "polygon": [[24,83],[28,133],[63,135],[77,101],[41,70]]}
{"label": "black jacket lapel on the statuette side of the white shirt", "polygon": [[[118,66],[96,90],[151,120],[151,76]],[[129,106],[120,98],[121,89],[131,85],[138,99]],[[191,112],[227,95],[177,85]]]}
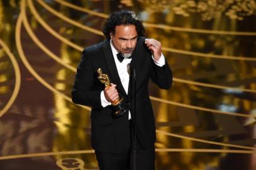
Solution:
{"label": "black jacket lapel on the statuette side of the white shirt", "polygon": [[126,96],[127,94],[125,93],[124,87],[122,86],[122,82],[117,72],[117,66],[115,65],[115,60],[113,59],[113,53],[110,47],[109,40],[105,40],[103,42],[103,52],[105,55],[105,61],[108,71],[110,72],[110,82],[112,82],[113,84],[117,84],[117,90],[124,96]]}

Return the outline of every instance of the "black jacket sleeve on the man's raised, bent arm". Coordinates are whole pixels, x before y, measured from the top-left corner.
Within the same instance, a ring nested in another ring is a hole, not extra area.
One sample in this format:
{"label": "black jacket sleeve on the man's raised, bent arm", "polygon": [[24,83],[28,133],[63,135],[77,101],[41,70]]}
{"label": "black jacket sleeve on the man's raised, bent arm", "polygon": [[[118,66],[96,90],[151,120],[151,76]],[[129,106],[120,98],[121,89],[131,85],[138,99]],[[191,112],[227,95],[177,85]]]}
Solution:
{"label": "black jacket sleeve on the man's raised, bent arm", "polygon": [[162,67],[153,64],[153,71],[151,74],[151,81],[156,83],[161,89],[170,89],[173,82],[172,70],[170,69],[168,62],[165,59],[165,65]]}

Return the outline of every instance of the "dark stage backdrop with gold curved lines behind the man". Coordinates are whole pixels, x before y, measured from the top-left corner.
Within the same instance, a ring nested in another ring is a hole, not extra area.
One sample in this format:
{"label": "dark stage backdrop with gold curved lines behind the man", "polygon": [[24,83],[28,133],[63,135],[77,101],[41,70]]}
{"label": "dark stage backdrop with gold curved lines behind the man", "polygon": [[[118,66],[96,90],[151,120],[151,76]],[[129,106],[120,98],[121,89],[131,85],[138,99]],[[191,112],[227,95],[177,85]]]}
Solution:
{"label": "dark stage backdrop with gold curved lines behind the man", "polygon": [[0,1],[0,169],[98,169],[90,107],[71,102],[83,48],[131,9],[162,43],[172,89],[149,84],[157,170],[256,169],[256,2]]}

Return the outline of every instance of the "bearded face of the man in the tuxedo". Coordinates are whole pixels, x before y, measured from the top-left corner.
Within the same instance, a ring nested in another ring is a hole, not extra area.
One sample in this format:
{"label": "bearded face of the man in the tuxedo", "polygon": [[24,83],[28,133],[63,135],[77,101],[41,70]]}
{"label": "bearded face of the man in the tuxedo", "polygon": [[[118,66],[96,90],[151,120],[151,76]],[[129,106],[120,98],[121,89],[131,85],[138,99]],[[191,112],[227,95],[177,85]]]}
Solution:
{"label": "bearded face of the man in the tuxedo", "polygon": [[137,31],[134,25],[115,26],[115,34],[110,34],[115,49],[124,57],[130,57],[137,43]]}

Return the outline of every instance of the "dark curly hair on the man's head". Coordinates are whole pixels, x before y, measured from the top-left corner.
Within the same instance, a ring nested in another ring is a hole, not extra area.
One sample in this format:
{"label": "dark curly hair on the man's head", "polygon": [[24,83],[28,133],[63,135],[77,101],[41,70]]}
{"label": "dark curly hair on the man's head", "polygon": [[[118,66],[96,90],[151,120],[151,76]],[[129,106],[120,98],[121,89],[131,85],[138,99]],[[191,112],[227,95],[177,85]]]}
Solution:
{"label": "dark curly hair on the man's head", "polygon": [[110,33],[115,34],[115,26],[118,25],[134,25],[136,27],[137,35],[144,37],[145,28],[139,16],[137,16],[134,11],[122,9],[121,11],[115,11],[115,13],[110,15],[102,27],[102,32],[108,40],[110,40]]}

